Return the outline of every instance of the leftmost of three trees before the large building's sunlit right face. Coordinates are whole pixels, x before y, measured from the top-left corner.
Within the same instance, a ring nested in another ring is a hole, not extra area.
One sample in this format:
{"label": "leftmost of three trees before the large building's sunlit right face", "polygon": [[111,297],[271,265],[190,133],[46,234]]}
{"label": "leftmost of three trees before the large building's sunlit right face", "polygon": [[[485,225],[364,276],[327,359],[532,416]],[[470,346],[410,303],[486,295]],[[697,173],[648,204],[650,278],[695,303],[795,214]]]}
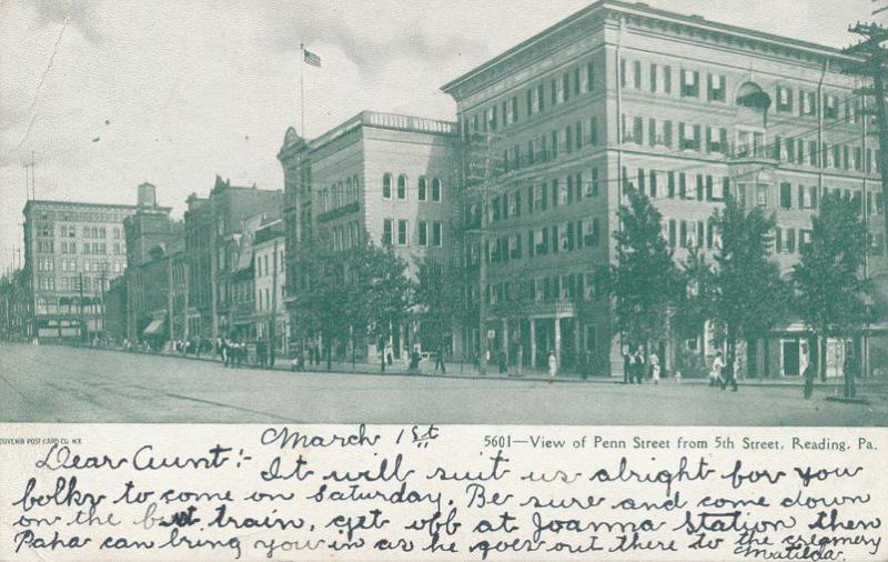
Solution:
{"label": "leftmost of three trees before the large building's sunlit right face", "polygon": [[660,213],[634,188],[626,190],[626,197],[628,207],[617,211],[622,229],[614,232],[617,264],[612,269],[610,290],[617,328],[640,343],[664,333],[679,282],[660,232]]}

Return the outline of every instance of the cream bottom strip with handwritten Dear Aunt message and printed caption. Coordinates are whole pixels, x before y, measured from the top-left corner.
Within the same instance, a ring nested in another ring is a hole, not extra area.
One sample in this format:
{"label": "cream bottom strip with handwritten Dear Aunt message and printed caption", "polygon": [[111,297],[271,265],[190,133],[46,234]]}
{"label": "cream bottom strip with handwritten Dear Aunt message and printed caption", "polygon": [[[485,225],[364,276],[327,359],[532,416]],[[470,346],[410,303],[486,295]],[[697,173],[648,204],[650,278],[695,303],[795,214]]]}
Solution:
{"label": "cream bottom strip with handwritten Dear Aunt message and printed caption", "polygon": [[0,430],[0,560],[888,559],[879,430]]}

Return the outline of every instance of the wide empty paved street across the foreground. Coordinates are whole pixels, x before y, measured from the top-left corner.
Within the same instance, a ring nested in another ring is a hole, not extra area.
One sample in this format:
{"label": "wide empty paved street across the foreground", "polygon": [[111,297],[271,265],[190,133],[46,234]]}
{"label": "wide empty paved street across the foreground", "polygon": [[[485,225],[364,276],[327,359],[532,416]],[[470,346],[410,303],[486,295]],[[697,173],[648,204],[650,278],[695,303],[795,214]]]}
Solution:
{"label": "wide empty paved street across the foreground", "polygon": [[888,425],[870,405],[810,401],[798,387],[737,393],[668,382],[549,383],[224,369],[181,358],[0,344],[3,422],[321,422],[665,425]]}

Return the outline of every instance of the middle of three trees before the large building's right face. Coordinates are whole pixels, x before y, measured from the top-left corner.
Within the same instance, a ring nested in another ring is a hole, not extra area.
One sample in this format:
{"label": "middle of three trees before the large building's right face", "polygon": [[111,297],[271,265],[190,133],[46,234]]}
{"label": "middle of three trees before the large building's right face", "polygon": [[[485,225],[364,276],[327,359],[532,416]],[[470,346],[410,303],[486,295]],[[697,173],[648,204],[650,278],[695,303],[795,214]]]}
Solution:
{"label": "middle of three trees before the large building's right face", "polygon": [[725,208],[716,209],[713,227],[720,233],[713,320],[733,369],[737,341],[767,335],[786,318],[791,295],[779,267],[770,260],[774,215],[765,217],[758,207],[747,210],[727,198]]}

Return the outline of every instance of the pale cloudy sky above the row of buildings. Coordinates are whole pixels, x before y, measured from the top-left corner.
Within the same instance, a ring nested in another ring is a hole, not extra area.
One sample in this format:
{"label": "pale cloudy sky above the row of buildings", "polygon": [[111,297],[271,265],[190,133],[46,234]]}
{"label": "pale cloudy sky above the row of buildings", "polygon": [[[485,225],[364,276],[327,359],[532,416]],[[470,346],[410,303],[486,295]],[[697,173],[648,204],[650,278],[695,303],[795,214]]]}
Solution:
{"label": "pale cloudy sky above the row of buildings", "polygon": [[[440,88],[592,0],[0,0],[0,267],[37,199],[134,204],[142,182],[181,217],[216,174],[283,189],[275,154],[364,109],[455,119]],[[885,0],[878,0],[885,2]],[[872,0],[647,0],[834,47]],[[23,255],[23,252],[22,252]]]}

